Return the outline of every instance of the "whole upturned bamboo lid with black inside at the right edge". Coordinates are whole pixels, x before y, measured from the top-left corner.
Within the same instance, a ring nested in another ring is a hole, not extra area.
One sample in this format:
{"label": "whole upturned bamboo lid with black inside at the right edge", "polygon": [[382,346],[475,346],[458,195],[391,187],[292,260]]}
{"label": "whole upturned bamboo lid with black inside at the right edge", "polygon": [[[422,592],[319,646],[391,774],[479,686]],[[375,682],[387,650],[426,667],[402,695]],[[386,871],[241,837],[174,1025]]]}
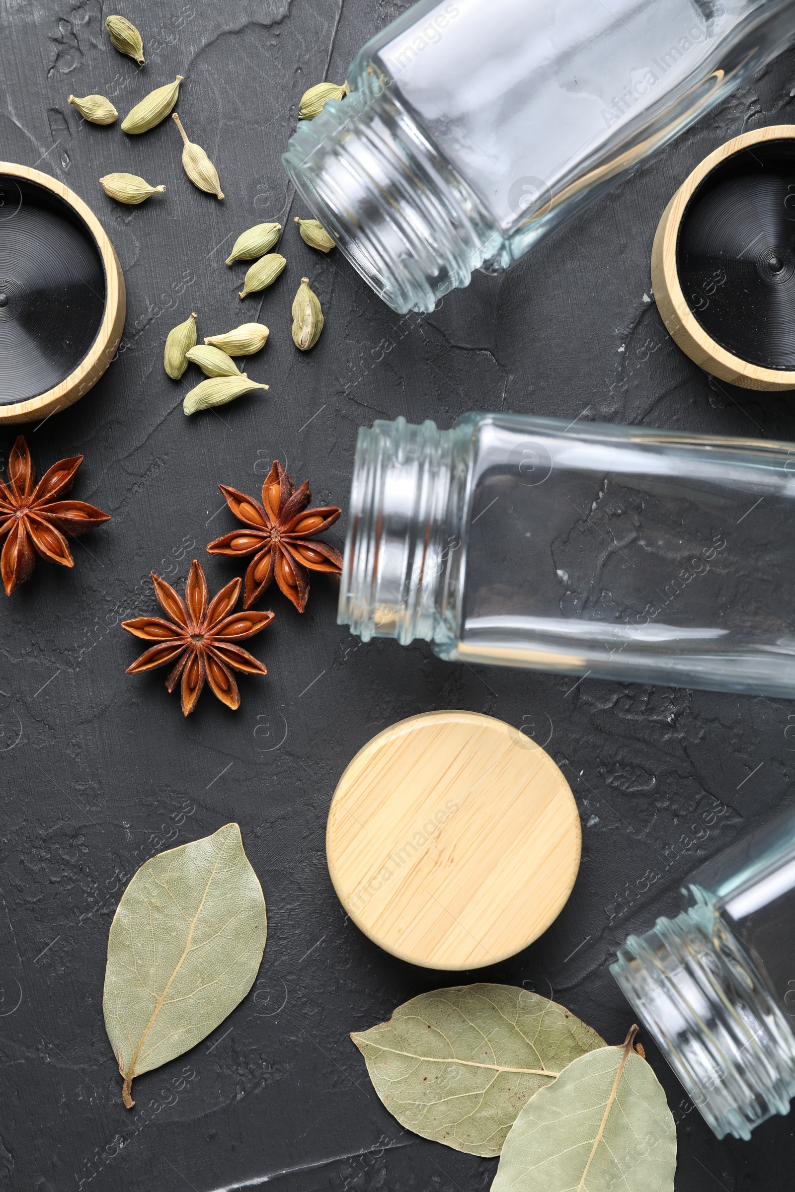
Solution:
{"label": "whole upturned bamboo lid with black inside at the right edge", "polygon": [[743,389],[795,389],[795,125],[727,141],[657,228],[654,302],[701,368]]}

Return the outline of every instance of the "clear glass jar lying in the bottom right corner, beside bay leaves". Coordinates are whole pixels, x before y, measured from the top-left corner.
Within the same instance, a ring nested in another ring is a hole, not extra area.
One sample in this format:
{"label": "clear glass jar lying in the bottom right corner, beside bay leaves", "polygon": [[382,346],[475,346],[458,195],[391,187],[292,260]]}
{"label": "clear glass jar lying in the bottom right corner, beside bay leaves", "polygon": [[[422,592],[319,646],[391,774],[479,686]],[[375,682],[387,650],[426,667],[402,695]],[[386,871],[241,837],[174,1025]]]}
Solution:
{"label": "clear glass jar lying in the bottom right corner, beside bay leaves", "polygon": [[610,970],[719,1138],[795,1097],[795,812],[697,869]]}

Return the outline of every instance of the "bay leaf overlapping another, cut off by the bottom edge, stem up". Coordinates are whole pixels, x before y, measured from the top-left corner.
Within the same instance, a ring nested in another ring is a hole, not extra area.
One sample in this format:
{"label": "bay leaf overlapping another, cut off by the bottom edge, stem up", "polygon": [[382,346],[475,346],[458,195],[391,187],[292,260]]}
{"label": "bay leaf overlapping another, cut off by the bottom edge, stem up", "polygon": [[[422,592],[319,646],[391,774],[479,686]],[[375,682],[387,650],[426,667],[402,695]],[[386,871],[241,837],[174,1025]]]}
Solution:
{"label": "bay leaf overlapping another, cut off by the bottom edge, stem up", "polygon": [[491,1192],[673,1192],[676,1125],[645,1060],[623,1047],[574,1060],[530,1098]]}

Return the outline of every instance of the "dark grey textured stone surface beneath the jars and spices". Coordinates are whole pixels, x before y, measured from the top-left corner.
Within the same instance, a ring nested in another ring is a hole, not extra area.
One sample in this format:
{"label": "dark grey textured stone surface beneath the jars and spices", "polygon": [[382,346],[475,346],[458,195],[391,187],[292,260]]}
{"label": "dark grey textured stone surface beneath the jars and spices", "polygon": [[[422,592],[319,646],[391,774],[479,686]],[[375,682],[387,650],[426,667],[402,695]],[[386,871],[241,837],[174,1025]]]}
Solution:
{"label": "dark grey textured stone surface beneath the jars and spices", "polygon": [[[39,471],[85,453],[74,496],[113,520],[75,545],[73,571],[39,563],[4,604],[2,1187],[487,1188],[496,1163],[404,1132],[348,1039],[412,994],[452,983],[362,938],[325,867],[340,774],[402,716],[462,707],[533,724],[540,743],[549,737],[583,817],[582,871],[542,939],[472,979],[552,989],[611,1042],[631,1023],[607,969],[616,945],[676,908],[677,886],[697,862],[791,801],[793,703],[590,679],[570,690],[566,678],[448,665],[423,645],[362,646],[337,627],[335,589],[323,582],[312,584],[303,617],[278,592],[265,604],[277,619],[254,648],[271,672],[243,681],[237,714],[205,694],[184,721],[162,672],[124,673],[137,651],[118,621],[155,610],[151,569],[182,583],[195,554],[211,588],[232,575],[204,553],[232,524],[217,483],[255,491],[280,457],[297,482],[310,477],[316,499],[344,505],[356,428],[374,417],[449,426],[478,406],[570,418],[588,410],[615,422],[795,437],[791,397],[709,381],[645,297],[657,221],[687,173],[729,136],[791,120],[793,56],[509,274],[479,275],[434,315],[398,319],[339,255],[319,257],[300,242],[287,223],[299,209],[279,155],[304,88],[327,70],[341,80],[366,37],[404,7],[133,0],[124,13],[148,57],[138,73],[111,49],[99,0],[4,6],[0,155],[49,169],[92,205],[118,249],[129,312],[123,352],[100,384],[26,428]],[[170,120],[128,139],[118,125],[83,124],[67,105],[69,92],[103,92],[125,114],[176,73],[186,76],[180,116],[219,169],[223,204],[187,182]],[[114,169],[167,192],[116,206],[98,182]],[[223,257],[237,232],[271,218],[287,225],[288,269],[262,303],[241,304],[244,267],[228,271]],[[299,355],[290,304],[304,272],[327,324],[317,348]],[[267,395],[184,417],[187,377],[168,380],[162,346],[191,310],[201,334],[261,310],[271,341],[250,373],[267,380]],[[12,442],[13,432],[2,435],[5,458]],[[330,535],[339,545],[343,529]],[[715,800],[729,812],[708,826]],[[122,875],[162,848],[161,825],[175,825],[180,843],[230,819],[268,905],[261,976],[213,1036],[136,1080],[136,1111],[145,1113],[136,1125],[101,1016]],[[790,1118],[750,1143],[716,1142],[645,1042],[678,1122],[679,1192],[791,1186]]]}

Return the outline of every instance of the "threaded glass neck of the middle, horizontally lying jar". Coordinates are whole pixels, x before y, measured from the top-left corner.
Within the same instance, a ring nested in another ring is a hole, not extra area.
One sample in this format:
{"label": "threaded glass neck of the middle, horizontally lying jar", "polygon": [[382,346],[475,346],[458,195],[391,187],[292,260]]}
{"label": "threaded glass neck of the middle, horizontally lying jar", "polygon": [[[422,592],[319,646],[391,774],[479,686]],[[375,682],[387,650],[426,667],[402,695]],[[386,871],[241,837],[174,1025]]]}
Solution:
{"label": "threaded glass neck of the middle, horizontally lying jar", "polygon": [[[477,418],[477,416],[476,416]],[[472,417],[359,430],[337,622],[362,641],[451,641],[460,619]]]}

